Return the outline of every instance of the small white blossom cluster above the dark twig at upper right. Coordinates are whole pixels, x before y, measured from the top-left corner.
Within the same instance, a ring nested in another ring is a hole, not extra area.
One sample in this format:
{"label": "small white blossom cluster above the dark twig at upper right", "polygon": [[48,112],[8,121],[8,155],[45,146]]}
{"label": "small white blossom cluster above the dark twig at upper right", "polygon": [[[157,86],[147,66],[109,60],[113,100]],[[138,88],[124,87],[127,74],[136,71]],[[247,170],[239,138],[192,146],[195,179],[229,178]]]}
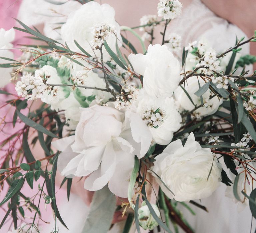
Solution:
{"label": "small white blossom cluster above the dark twig at upper right", "polygon": [[217,58],[217,53],[214,49],[206,50],[203,59],[196,65],[196,67],[203,66],[210,70],[220,70],[220,61]]}

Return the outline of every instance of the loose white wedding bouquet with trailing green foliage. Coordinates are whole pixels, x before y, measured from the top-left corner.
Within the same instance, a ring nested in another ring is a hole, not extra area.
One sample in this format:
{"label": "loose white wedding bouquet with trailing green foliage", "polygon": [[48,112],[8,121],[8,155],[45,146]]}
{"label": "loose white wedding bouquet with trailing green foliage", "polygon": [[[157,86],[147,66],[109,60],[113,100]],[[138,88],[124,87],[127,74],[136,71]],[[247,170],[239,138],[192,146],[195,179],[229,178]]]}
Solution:
{"label": "loose white wedding bouquet with trailing green foliage", "polygon": [[[41,42],[24,47],[17,60],[8,50],[14,29],[0,30],[0,85],[11,79],[16,86],[16,94],[0,90],[12,96],[5,106],[15,108],[11,122],[3,116],[1,124],[24,123],[1,142],[0,182],[10,187],[0,203],[9,202],[0,228],[11,215],[17,232],[40,232],[35,222],[40,200],[65,225],[55,196],[57,170],[62,184],[67,182],[68,198],[73,177],[86,177],[84,188],[95,191],[94,212],[83,232],[107,232],[117,210],[127,217],[123,232],[133,226],[138,233],[154,227],[171,232],[171,225],[193,232],[179,206],[207,210],[196,200],[209,197],[220,182],[256,218],[256,71],[245,67],[255,57],[239,56],[240,47],[256,35],[237,38],[222,53],[200,41],[182,50],[178,34],[166,35],[181,13],[178,0],[161,0],[158,16],[145,15],[134,28],[120,26],[108,4],[80,2],[57,28],[59,39],[17,20],[22,28],[16,30]],[[154,29],[162,26],[162,44],[154,44]],[[124,31],[138,38],[143,53]],[[143,39],[151,43],[147,49]],[[45,154],[40,159],[32,150],[37,142]],[[40,177],[36,203],[22,190],[25,183],[33,188]],[[115,195],[127,201],[116,206]],[[24,207],[34,218],[19,228]]]}

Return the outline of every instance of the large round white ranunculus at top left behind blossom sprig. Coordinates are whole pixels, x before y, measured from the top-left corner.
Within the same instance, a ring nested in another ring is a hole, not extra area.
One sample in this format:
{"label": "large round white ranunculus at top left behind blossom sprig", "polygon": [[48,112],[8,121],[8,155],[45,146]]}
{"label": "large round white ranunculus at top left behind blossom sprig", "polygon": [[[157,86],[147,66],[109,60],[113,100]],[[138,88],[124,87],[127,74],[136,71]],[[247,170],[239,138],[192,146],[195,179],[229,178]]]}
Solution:
{"label": "large round white ranunculus at top left behind blossom sprig", "polygon": [[[65,24],[61,28],[61,37],[67,43],[69,48],[75,52],[81,52],[74,40],[89,54],[94,56],[92,45],[94,40],[94,27],[100,24],[114,26],[119,41],[122,41],[120,35],[120,26],[115,21],[115,10],[108,4],[100,5],[97,2],[88,2],[82,5],[78,10],[72,12]],[[116,36],[112,33],[107,38],[109,47],[116,51]],[[118,42],[119,47],[121,43]],[[99,50],[94,50],[97,57],[100,56]],[[107,51],[103,48],[104,58],[109,58]]]}

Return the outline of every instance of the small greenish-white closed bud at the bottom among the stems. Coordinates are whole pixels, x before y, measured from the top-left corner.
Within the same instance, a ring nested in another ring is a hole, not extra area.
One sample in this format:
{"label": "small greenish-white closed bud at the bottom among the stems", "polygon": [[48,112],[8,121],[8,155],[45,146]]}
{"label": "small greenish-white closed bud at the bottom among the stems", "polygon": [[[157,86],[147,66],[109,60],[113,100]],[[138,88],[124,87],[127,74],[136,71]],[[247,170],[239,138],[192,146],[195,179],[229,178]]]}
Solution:
{"label": "small greenish-white closed bud at the bottom among the stems", "polygon": [[[154,209],[157,217],[160,218],[161,215],[157,205],[151,204],[151,206]],[[156,226],[158,226],[158,223],[150,213],[150,210],[146,204],[146,201],[143,201],[141,203],[141,207],[138,209],[138,219],[139,219],[140,226],[144,230],[147,230],[147,229],[153,230]]]}

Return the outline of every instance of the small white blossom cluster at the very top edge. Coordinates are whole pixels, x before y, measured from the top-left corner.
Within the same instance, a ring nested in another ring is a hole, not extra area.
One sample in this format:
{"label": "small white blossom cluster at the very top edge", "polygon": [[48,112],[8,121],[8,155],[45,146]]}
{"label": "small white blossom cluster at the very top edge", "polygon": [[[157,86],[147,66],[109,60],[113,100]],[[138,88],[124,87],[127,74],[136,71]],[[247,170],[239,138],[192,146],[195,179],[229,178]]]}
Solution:
{"label": "small white blossom cluster at the very top edge", "polygon": [[182,3],[178,0],[160,0],[157,5],[157,14],[164,19],[174,19],[181,14]]}

